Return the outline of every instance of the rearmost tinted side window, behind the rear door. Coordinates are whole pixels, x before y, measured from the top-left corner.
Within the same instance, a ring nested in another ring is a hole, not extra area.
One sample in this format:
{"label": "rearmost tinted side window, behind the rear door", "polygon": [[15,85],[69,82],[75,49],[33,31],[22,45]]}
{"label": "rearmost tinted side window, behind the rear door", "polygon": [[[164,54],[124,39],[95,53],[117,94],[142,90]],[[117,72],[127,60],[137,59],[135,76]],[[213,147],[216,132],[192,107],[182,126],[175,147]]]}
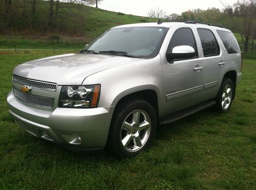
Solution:
{"label": "rearmost tinted side window, behind the rear door", "polygon": [[217,33],[219,34],[227,53],[240,53],[237,40],[234,38],[231,32],[217,30]]}

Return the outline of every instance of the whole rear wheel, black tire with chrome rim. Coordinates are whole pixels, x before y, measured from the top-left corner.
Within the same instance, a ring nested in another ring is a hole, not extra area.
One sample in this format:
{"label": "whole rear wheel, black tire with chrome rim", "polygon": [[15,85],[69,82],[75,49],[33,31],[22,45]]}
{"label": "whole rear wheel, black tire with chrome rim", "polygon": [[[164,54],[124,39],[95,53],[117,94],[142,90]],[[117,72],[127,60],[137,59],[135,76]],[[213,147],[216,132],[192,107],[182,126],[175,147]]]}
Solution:
{"label": "whole rear wheel, black tire with chrome rim", "polygon": [[234,98],[234,85],[230,78],[224,78],[219,93],[216,96],[216,110],[229,111]]}

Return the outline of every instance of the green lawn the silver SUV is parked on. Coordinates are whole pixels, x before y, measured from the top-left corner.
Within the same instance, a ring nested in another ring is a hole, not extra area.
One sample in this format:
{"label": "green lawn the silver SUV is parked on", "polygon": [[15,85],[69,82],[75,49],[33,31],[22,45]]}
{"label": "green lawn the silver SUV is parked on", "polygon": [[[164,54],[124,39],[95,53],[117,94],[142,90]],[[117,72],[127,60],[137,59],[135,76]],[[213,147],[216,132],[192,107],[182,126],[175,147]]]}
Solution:
{"label": "green lawn the silver SUV is parked on", "polygon": [[1,189],[256,188],[255,60],[243,60],[243,79],[228,113],[208,109],[162,125],[150,149],[120,160],[63,150],[20,128],[9,116],[6,103],[12,70],[22,62],[56,53],[1,53]]}

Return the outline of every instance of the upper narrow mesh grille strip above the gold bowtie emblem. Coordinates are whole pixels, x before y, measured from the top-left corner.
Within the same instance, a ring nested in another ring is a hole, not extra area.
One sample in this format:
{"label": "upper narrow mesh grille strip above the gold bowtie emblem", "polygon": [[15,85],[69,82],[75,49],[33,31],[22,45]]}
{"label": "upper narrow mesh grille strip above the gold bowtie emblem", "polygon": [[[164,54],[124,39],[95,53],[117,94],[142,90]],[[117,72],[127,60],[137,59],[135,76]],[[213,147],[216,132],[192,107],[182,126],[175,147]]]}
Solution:
{"label": "upper narrow mesh grille strip above the gold bowtie emblem", "polygon": [[56,84],[31,80],[17,75],[13,75],[13,81],[20,85],[26,85],[41,90],[56,91],[57,89]]}

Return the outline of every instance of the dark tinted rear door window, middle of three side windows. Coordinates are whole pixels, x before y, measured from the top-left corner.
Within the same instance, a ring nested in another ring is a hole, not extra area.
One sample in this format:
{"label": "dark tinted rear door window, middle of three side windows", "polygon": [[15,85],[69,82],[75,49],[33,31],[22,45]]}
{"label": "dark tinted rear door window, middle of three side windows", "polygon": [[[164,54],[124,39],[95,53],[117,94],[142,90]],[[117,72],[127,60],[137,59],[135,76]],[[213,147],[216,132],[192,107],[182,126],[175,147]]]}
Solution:
{"label": "dark tinted rear door window, middle of three side windows", "polygon": [[214,34],[208,29],[198,29],[204,57],[220,55],[220,47]]}

